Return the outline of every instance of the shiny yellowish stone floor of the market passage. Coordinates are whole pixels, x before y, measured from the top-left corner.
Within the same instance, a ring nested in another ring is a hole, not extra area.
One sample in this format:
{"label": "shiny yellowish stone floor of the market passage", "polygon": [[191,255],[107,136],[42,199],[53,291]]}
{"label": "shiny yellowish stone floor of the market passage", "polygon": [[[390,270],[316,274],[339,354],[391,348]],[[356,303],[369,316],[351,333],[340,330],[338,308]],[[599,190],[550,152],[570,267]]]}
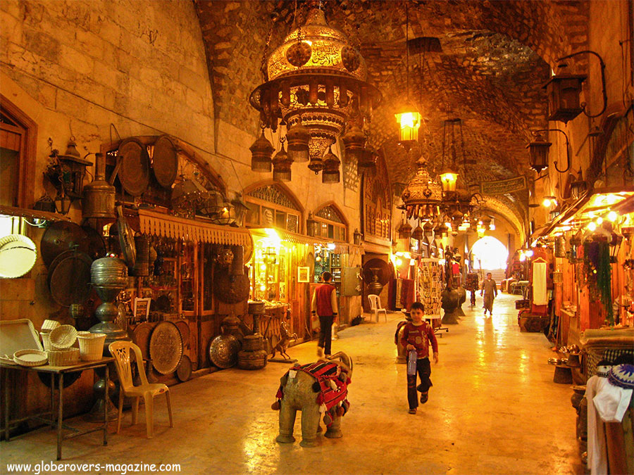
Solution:
{"label": "shiny yellowish stone floor of the market passage", "polygon": [[[479,296],[473,311],[465,305],[466,317],[438,339],[434,386],[416,415],[407,412],[405,365],[394,364],[400,316],[392,313],[387,324],[382,315],[333,341],[333,353],[354,358],[343,438],[320,436],[316,448],[301,448],[298,417],[298,441],[275,442],[278,412],[270,407],[287,365],[269,363],[173,386],[173,429],[157,398],[153,439],[144,424],[130,426],[128,412],[106,448],[100,433],[75,438],[66,441],[63,462],[181,464],[185,474],[583,474],[571,388],[552,382],[545,336],[520,333],[515,299],[500,294],[492,319],[483,318]],[[310,362],[315,348],[305,343],[288,353]],[[0,443],[1,471],[54,460],[55,443],[49,429]]]}

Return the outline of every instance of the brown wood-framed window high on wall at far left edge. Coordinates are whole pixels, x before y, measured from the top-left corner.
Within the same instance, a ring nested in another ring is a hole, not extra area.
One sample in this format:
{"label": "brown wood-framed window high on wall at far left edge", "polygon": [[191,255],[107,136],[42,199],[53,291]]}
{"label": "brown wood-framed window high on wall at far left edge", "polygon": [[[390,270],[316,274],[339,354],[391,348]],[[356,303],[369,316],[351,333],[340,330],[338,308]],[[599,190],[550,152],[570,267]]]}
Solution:
{"label": "brown wood-framed window high on wall at far left edge", "polygon": [[37,127],[0,96],[0,204],[30,208],[35,177]]}

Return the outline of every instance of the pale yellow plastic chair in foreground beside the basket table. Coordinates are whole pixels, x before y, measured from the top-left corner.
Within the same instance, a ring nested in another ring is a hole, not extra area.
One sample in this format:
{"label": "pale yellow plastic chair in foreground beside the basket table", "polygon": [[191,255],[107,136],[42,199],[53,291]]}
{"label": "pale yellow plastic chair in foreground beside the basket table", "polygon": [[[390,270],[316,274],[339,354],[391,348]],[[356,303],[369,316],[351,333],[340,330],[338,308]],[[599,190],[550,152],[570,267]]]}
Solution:
{"label": "pale yellow plastic chair in foreground beside the basket table", "polygon": [[[119,414],[117,419],[117,433],[121,429],[121,414],[123,412],[123,398],[134,398],[132,403],[132,425],[137,424],[137,414],[139,413],[139,398],[143,398],[145,403],[145,424],[147,426],[147,438],[154,436],[154,396],[157,394],[165,393],[165,397],[168,403],[168,414],[170,416],[170,427],[173,427],[172,422],[172,405],[170,404],[170,389],[161,383],[149,384],[147,382],[147,376],[143,365],[140,363],[143,361],[141,355],[141,348],[129,341],[115,341],[108,346],[110,354],[115,359],[115,365],[117,367],[117,374],[119,375]],[[141,376],[141,386],[134,386],[132,384],[132,365],[130,363],[130,350],[135,353],[135,360],[137,362],[137,369],[139,376]]]}

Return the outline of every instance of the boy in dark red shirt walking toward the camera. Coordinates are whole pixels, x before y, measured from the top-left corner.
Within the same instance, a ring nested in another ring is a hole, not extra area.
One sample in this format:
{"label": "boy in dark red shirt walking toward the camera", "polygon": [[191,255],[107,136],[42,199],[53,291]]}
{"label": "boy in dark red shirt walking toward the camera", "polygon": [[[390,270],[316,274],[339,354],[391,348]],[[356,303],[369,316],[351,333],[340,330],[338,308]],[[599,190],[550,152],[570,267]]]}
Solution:
{"label": "boy in dark red shirt walking toward the camera", "polygon": [[421,391],[421,404],[425,404],[428,400],[428,391],[432,386],[432,382],[429,379],[431,374],[431,365],[429,362],[429,343],[431,342],[434,362],[438,362],[438,342],[434,334],[434,329],[427,322],[423,322],[423,315],[425,315],[425,308],[420,302],[414,302],[411,304],[409,310],[411,315],[411,322],[408,322],[403,327],[403,334],[401,337],[401,344],[405,347],[407,355],[411,350],[416,350],[418,360],[416,361],[416,372],[421,378],[421,384],[416,388],[416,374],[407,375],[407,401],[409,403],[409,413],[416,414],[416,407],[418,407],[418,399],[416,398],[416,389]]}

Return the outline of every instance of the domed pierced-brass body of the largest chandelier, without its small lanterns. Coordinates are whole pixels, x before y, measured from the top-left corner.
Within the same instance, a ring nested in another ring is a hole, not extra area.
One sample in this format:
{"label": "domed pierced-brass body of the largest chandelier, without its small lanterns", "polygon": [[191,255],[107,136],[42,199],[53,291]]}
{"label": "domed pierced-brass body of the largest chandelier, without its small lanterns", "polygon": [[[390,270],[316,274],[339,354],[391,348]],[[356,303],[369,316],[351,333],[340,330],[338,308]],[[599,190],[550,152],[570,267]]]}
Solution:
{"label": "domed pierced-brass body of the largest chandelier, without its small lanterns", "polygon": [[[319,172],[325,150],[347,120],[353,115],[369,119],[381,94],[366,82],[365,61],[347,35],[328,26],[319,8],[312,8],[307,18],[268,56],[265,82],[251,93],[249,102],[261,112],[265,127],[276,129],[282,118],[290,132],[301,121],[311,137],[309,168]],[[289,140],[289,156],[302,161],[295,143]],[[304,139],[301,143],[303,154]]]}

